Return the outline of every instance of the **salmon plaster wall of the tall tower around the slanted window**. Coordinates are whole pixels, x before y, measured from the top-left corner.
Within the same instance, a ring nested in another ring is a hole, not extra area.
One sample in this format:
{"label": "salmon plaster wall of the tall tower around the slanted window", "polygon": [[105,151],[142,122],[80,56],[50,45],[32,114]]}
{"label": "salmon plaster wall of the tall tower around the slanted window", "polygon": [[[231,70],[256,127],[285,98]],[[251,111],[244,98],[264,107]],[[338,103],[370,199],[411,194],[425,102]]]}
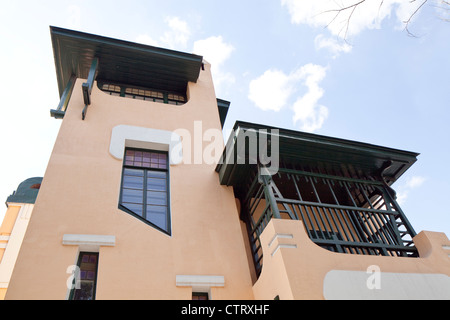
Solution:
{"label": "salmon plaster wall of the tall tower around the slanted window", "polygon": [[253,298],[233,191],[219,184],[214,164],[170,166],[171,236],[118,209],[122,162],[109,154],[112,129],[193,132],[201,120],[203,130],[220,130],[210,65],[205,69],[182,106],[109,96],[95,84],[84,121],[84,80],[77,80],[7,299],[67,297],[66,270],[78,247],[62,245],[64,234],[116,237],[114,247],[100,247],[97,299],[190,299],[176,275],[221,275],[225,287],[212,288],[215,298]]}

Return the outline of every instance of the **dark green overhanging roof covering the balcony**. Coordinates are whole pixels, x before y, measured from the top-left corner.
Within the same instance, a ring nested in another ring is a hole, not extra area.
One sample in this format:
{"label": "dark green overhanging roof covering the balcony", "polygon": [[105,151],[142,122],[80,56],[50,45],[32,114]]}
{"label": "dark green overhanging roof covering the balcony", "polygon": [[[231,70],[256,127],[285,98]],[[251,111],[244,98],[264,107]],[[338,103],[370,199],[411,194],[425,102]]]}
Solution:
{"label": "dark green overhanging roof covering the balcony", "polygon": [[[260,124],[237,121],[234,132],[237,136],[230,137],[226,151],[237,154],[239,135],[245,134],[247,130],[267,130],[270,135],[278,130],[280,167],[284,166],[307,166],[342,168],[352,167],[368,175],[379,173],[390,163],[384,171],[384,177],[388,183],[395,182],[414,162],[417,161],[418,153],[392,149],[363,142],[344,140],[327,137],[306,132],[287,130]],[[225,151],[225,152],[226,152]],[[224,152],[224,154],[225,154]],[[248,157],[248,152],[245,152]],[[228,186],[239,186],[245,182],[249,172],[252,171],[248,158],[245,164],[222,163],[216,167],[219,172],[220,183]],[[256,166],[256,165],[253,165]]]}

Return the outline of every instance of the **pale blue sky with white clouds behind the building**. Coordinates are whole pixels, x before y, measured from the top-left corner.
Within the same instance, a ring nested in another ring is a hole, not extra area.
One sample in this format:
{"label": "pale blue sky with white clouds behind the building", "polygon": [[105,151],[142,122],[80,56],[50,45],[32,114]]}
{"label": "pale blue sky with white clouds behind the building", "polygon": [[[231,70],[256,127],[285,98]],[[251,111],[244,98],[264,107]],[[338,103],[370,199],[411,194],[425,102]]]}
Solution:
{"label": "pale blue sky with white clouds behind the building", "polygon": [[45,174],[61,124],[57,26],[202,55],[231,102],[225,131],[241,120],[420,153],[393,188],[417,233],[450,237],[450,11],[441,0],[336,11],[356,2],[2,0],[0,198]]}

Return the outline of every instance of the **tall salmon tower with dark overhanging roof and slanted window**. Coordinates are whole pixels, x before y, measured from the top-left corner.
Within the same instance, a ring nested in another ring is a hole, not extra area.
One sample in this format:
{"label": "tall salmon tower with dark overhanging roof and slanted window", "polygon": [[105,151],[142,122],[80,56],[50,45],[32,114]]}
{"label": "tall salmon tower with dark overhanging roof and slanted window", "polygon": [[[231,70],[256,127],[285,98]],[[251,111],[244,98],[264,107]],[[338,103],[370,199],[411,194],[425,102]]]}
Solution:
{"label": "tall salmon tower with dark overhanging roof and slanted window", "polygon": [[253,298],[233,190],[176,133],[221,132],[210,65],[50,31],[62,124],[6,298]]}

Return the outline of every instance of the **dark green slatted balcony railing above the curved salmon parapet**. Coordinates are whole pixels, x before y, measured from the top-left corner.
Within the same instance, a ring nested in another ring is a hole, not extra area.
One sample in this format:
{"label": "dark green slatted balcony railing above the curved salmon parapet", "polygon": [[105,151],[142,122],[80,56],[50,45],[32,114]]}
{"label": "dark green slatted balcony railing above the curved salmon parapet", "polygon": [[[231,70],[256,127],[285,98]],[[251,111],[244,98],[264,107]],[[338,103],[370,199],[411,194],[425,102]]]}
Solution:
{"label": "dark green slatted balcony railing above the curved salmon parapet", "polygon": [[[259,182],[259,183],[258,183]],[[262,268],[261,233],[275,217],[301,220],[309,238],[347,254],[417,257],[416,235],[394,191],[375,179],[280,169],[258,174],[244,202],[256,272]]]}

